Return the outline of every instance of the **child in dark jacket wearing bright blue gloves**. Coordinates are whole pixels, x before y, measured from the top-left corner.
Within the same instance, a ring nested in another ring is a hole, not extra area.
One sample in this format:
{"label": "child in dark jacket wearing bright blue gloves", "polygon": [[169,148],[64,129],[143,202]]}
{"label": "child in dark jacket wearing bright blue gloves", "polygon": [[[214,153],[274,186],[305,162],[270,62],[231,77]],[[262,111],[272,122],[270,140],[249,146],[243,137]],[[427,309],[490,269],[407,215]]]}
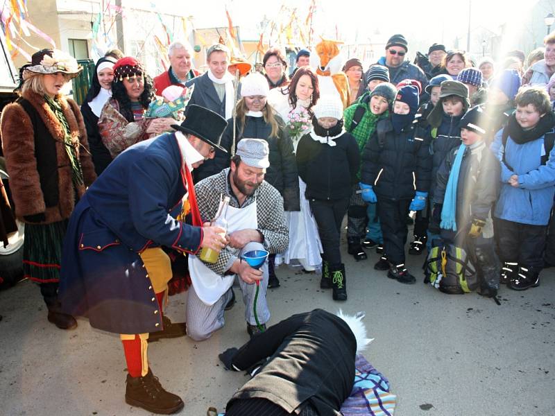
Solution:
{"label": "child in dark jacket wearing bright blue gloves", "polygon": [[384,234],[384,256],[376,270],[401,283],[416,281],[404,267],[409,211],[425,208],[430,184],[432,158],[428,144],[415,137],[414,114],[418,110],[418,89],[402,87],[393,114],[380,121],[363,154],[362,198],[378,203],[379,222]]}

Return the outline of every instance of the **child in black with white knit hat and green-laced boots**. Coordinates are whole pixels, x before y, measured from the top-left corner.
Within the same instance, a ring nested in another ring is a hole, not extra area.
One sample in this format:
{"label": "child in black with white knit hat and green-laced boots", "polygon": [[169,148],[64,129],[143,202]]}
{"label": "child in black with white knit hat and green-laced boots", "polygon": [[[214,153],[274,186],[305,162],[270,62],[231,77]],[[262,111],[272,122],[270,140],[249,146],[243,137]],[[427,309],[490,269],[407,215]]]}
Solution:
{"label": "child in black with white knit hat and green-laced boots", "polygon": [[343,130],[343,104],[339,97],[323,96],[313,110],[313,128],[297,147],[297,168],[307,184],[305,196],[322,241],[321,287],[332,287],[334,300],[347,300],[339,238],[351,187],[357,182],[359,147],[355,137]]}

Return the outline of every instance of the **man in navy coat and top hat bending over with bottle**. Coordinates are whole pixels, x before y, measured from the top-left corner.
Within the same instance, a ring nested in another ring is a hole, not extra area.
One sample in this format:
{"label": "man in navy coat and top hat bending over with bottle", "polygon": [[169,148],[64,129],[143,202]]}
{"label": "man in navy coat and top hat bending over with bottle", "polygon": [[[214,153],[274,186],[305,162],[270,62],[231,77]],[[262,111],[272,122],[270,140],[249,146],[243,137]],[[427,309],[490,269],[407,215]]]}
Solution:
{"label": "man in navy coat and top hat bending over with bottle", "polygon": [[193,254],[224,247],[219,233],[225,230],[200,218],[191,170],[214,157],[226,125],[218,114],[189,106],[185,121],[173,125],[177,132],[135,144],[114,159],[69,220],[63,308],[87,316],[94,328],[120,334],[126,402],[153,413],[183,407],[153,376],[146,356],[148,333],[171,327],[162,304],[172,272],[161,246]]}

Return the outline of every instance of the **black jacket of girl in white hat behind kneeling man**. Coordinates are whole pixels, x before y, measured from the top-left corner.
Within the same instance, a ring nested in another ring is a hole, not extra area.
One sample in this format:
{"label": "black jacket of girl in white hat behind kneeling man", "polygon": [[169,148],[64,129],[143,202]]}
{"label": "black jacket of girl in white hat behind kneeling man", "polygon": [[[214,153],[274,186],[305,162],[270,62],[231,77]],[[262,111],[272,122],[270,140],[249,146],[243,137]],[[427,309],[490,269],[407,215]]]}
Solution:
{"label": "black jacket of girl in white hat behind kneeling man", "polygon": [[[284,130],[284,123],[279,116],[280,128],[278,129],[278,137],[270,137],[271,125],[264,121],[264,117],[245,117],[245,127],[241,132],[241,121],[237,119],[235,150],[237,143],[244,139],[264,139],[268,142],[270,150],[270,166],[266,169],[264,180],[271,184],[281,193],[283,197],[285,211],[299,211],[299,180],[297,174],[297,164],[295,162],[295,153],[293,153],[293,142],[287,132]],[[216,166],[221,171],[230,165],[230,150],[233,143],[233,119],[228,120],[228,127],[225,128],[221,137],[220,145],[228,150],[228,154],[216,153],[214,160]],[[224,157],[221,157],[225,155]]]}

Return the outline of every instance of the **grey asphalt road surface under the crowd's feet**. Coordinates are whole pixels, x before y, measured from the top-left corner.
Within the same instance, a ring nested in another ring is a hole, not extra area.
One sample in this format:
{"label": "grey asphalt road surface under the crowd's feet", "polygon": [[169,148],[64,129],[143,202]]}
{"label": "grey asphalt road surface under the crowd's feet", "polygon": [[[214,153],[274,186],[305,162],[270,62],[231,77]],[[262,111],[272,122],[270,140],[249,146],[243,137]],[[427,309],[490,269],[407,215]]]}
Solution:
{"label": "grey asphalt road surface under the crowd's feet", "polygon": [[[343,247],[343,249],[345,249]],[[270,323],[323,308],[366,311],[375,338],[364,356],[398,397],[395,415],[555,415],[555,272],[528,291],[500,291],[498,306],[475,293],[445,295],[422,284],[422,257],[409,256],[415,285],[373,270],[378,256],[356,263],[344,251],[349,299],[321,291],[317,275],[278,268]],[[237,292],[239,294],[239,292]],[[185,320],[184,294],[171,298],[173,321]],[[118,336],[87,320],[61,331],[46,320],[38,288],[23,281],[0,292],[0,415],[147,415],[126,405],[126,363]],[[162,385],[185,401],[181,415],[203,416],[225,402],[246,376],[226,372],[217,355],[246,340],[240,295],[226,324],[203,343],[161,340],[148,348]]]}

